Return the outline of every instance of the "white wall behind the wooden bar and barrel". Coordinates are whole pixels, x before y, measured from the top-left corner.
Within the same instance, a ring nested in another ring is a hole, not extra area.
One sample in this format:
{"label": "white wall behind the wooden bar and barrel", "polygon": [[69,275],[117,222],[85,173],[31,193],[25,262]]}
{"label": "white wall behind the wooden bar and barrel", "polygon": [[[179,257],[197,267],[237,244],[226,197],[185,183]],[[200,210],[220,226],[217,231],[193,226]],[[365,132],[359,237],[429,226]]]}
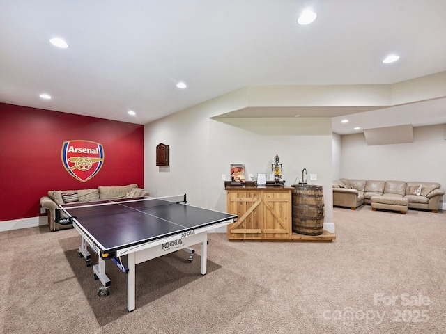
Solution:
{"label": "white wall behind the wooden bar and barrel", "polygon": [[[204,103],[145,126],[144,188],[151,196],[187,193],[191,205],[226,211],[222,174],[229,179],[230,164],[269,175],[278,154],[286,185],[307,168],[309,184],[323,186],[325,222],[333,222],[331,118],[211,118],[218,113]],[[155,164],[159,143],[169,145],[169,167]]]}

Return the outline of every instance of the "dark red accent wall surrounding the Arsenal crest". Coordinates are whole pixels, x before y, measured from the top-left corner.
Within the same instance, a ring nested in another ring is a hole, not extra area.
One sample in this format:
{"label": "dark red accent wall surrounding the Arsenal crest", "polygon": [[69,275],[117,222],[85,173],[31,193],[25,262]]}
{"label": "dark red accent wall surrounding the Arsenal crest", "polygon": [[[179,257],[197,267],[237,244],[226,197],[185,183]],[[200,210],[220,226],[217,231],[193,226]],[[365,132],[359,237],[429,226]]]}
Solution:
{"label": "dark red accent wall surrounding the Arsenal crest", "polygon": [[[63,167],[64,141],[103,145],[104,164],[81,182]],[[0,103],[0,221],[40,215],[49,190],[144,186],[144,125]]]}

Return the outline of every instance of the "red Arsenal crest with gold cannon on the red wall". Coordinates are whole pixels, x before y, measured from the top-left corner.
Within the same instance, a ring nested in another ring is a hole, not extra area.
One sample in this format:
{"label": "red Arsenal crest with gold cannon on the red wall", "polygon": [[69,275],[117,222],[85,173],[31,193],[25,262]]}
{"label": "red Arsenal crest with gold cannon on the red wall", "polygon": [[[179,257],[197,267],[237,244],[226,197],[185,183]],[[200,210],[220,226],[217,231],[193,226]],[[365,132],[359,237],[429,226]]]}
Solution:
{"label": "red Arsenal crest with gold cannon on the red wall", "polygon": [[62,164],[68,174],[86,182],[98,174],[104,164],[104,148],[94,141],[65,141],[62,145]]}

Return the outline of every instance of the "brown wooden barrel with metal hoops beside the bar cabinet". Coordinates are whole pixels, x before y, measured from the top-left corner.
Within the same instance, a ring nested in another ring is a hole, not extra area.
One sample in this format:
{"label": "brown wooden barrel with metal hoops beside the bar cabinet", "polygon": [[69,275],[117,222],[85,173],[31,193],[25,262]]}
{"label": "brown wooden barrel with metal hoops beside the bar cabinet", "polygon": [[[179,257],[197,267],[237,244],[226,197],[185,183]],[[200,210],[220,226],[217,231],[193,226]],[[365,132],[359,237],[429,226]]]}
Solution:
{"label": "brown wooden barrel with metal hoops beside the bar cabinet", "polygon": [[293,232],[305,235],[322,234],[325,215],[322,186],[292,186]]}

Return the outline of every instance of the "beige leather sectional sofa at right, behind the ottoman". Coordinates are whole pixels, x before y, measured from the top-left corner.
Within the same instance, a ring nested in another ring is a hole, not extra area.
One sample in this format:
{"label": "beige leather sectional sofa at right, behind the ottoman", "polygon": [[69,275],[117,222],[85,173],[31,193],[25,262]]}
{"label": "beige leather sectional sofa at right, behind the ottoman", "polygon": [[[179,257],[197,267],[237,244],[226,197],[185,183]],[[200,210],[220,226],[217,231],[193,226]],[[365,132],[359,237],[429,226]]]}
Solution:
{"label": "beige leather sectional sofa at right, behind the ottoman", "polygon": [[356,209],[371,204],[373,196],[407,198],[409,209],[438,212],[445,191],[436,182],[340,179],[333,181],[333,205]]}

